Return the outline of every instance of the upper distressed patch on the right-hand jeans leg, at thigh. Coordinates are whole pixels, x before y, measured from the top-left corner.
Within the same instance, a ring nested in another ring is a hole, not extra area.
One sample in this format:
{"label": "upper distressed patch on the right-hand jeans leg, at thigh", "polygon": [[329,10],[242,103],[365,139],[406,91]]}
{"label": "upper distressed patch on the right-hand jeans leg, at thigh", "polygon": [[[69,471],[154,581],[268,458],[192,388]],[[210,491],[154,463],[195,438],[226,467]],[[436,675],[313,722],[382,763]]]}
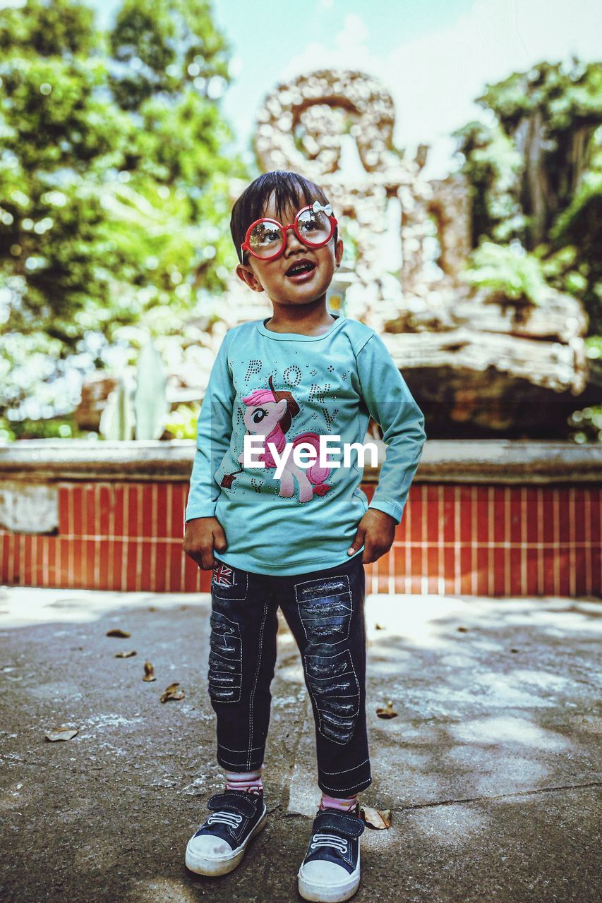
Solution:
{"label": "upper distressed patch on the right-hand jeans leg, at thigh", "polygon": [[295,598],[310,645],[334,646],[349,638],[352,597],[347,574],[296,583]]}

